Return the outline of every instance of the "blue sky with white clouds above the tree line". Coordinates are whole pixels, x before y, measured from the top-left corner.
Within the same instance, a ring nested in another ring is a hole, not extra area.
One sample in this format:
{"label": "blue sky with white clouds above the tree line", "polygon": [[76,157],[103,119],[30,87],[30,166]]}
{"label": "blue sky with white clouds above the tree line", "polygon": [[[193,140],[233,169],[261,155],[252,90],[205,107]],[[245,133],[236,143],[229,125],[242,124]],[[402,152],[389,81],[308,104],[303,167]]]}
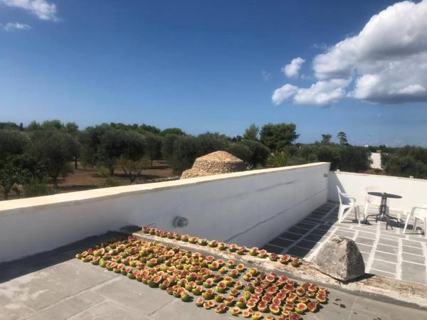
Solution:
{"label": "blue sky with white clouds above the tree line", "polygon": [[[409,53],[394,48],[408,34],[390,32],[396,14],[422,12],[419,1],[391,9],[395,1],[34,2],[0,0],[0,121],[146,123],[229,135],[252,123],[295,122],[300,142],[344,131],[353,144],[427,146],[426,78],[416,70],[395,80],[404,75],[381,64],[427,64],[419,46],[427,43],[425,24],[401,28],[423,31],[404,43]],[[397,38],[357,37],[379,13],[375,30]],[[399,58],[377,50],[383,40]],[[355,41],[363,50],[345,49]],[[282,68],[297,57],[305,62],[287,75]],[[351,74],[343,67],[337,75],[337,65],[349,64]]]}

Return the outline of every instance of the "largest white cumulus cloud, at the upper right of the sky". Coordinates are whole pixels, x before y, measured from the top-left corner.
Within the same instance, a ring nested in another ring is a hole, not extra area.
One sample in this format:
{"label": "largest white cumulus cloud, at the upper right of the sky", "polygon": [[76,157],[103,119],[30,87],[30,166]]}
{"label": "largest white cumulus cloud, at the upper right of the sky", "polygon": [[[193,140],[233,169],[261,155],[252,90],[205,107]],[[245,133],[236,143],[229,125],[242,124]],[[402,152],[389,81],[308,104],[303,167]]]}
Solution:
{"label": "largest white cumulus cloud, at the upper right of the sky", "polygon": [[320,106],[346,96],[373,103],[426,102],[426,17],[427,0],[399,2],[372,16],[356,36],[315,56],[312,68],[317,82],[297,89],[305,92],[304,99],[298,94],[288,99],[297,105]]}

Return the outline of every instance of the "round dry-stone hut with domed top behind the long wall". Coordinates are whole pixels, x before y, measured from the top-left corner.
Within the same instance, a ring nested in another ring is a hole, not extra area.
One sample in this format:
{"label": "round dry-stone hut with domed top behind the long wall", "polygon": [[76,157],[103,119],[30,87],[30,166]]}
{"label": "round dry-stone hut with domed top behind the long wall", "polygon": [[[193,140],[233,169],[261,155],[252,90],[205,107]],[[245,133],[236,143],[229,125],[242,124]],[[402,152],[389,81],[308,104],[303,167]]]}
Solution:
{"label": "round dry-stone hut with domed top behind the long wall", "polygon": [[215,151],[194,161],[193,167],[182,173],[181,179],[213,174],[228,174],[246,169],[244,162],[226,151]]}

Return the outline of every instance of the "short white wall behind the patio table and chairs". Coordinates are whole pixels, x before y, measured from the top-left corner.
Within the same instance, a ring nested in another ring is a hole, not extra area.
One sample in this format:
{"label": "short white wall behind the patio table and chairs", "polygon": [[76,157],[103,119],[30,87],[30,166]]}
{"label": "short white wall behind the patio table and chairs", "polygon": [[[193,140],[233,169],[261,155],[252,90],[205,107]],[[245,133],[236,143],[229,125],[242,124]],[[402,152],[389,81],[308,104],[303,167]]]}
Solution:
{"label": "short white wall behind the patio table and chairs", "polygon": [[427,180],[422,179],[331,171],[328,184],[330,201],[338,201],[337,186],[354,196],[359,205],[364,205],[364,189],[371,186],[402,196],[401,199],[387,199],[387,204],[394,210],[409,210],[413,206],[427,203]]}

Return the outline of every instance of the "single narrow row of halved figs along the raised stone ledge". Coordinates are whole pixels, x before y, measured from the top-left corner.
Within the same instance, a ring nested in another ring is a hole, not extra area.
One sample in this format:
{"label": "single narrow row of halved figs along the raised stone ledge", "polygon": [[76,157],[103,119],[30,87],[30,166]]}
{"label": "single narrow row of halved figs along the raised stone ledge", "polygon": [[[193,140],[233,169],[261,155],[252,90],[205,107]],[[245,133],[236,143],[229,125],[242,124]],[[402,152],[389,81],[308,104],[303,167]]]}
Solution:
{"label": "single narrow row of halved figs along the raised stone ledge", "polygon": [[218,242],[218,240],[207,240],[191,235],[181,235],[180,233],[174,233],[173,231],[159,230],[157,228],[149,228],[147,226],[142,227],[142,232],[149,235],[157,235],[161,238],[168,238],[179,240],[183,242],[189,242],[194,245],[202,245],[209,247],[216,247],[219,250],[230,252],[236,252],[238,255],[251,255],[253,257],[268,258],[271,261],[279,261],[283,265],[290,263],[293,267],[298,267],[301,264],[300,258],[290,257],[290,255],[277,255],[273,252],[267,252],[267,250],[260,250],[258,247],[251,247],[250,249],[245,246],[239,246],[236,244],[227,245],[224,242]]}

